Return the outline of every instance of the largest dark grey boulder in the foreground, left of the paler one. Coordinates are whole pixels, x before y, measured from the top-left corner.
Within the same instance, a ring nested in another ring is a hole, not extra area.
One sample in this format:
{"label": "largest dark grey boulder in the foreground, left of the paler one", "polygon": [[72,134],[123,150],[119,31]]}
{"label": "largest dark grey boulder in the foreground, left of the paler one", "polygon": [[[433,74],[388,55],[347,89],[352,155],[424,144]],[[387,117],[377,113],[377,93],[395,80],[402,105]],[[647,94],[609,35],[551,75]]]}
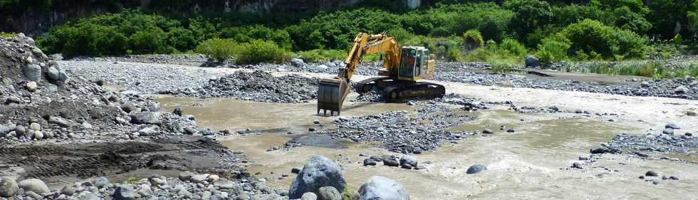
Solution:
{"label": "largest dark grey boulder in the foreground, left of the paler one", "polygon": [[342,168],[327,157],[318,155],[308,160],[303,170],[298,173],[291,189],[288,190],[288,197],[300,199],[306,192],[318,194],[323,186],[333,186],[338,191],[344,191],[345,185]]}

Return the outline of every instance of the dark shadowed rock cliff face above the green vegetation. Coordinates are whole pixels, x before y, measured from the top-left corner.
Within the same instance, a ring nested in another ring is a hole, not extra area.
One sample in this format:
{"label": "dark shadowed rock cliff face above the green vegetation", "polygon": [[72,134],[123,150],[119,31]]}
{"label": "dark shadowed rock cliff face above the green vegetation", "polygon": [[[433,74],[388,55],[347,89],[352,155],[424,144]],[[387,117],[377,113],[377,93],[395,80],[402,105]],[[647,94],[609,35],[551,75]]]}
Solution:
{"label": "dark shadowed rock cliff face above the green vegetation", "polygon": [[[107,0],[107,1],[52,1],[51,5],[0,7],[0,31],[22,32],[38,36],[49,27],[61,25],[71,19],[93,14],[115,12],[120,9],[147,9],[180,14],[193,12],[272,12],[272,11],[326,11],[343,6],[353,6],[363,0]],[[17,3],[20,4],[20,3]],[[422,0],[400,0],[395,4],[415,9]]]}

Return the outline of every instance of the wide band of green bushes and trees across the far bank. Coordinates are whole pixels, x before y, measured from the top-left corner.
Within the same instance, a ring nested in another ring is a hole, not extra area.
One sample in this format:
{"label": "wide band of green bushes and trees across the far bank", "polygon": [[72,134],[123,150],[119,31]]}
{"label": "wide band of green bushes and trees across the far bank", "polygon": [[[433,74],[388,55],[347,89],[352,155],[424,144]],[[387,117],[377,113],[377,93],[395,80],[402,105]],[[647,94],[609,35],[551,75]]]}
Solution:
{"label": "wide band of green bushes and trees across the far bank", "polygon": [[[204,52],[197,47],[204,45],[223,55],[234,54],[220,56],[208,51],[212,58],[237,56],[238,63],[283,60],[293,56],[291,51],[309,61],[340,60],[356,33],[383,31],[395,36],[401,45],[427,46],[439,59],[509,64],[522,63],[526,54],[550,63],[668,58],[698,50],[694,47],[698,1],[653,0],[649,5],[642,0],[590,0],[585,4],[562,0],[430,1],[430,6],[412,11],[384,1],[365,1],[359,6],[306,13],[209,12],[187,16],[170,11],[192,2],[155,2],[140,11],[123,9],[80,19],[51,28],[37,38],[37,43],[47,53],[68,57]],[[53,1],[30,4],[0,0],[2,11],[56,6]],[[235,43],[236,50],[204,44],[212,38],[228,39],[226,43]],[[245,48],[253,43],[264,48]],[[264,58],[250,57],[257,53]]]}

